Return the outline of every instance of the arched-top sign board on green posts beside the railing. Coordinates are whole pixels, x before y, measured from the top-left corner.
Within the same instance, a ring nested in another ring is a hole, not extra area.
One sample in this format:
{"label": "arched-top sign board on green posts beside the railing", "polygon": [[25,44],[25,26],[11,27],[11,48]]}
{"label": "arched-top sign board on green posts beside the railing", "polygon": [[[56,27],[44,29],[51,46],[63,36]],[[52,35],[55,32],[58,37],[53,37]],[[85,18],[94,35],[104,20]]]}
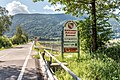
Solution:
{"label": "arched-top sign board on green posts beside the railing", "polygon": [[79,32],[74,21],[67,21],[62,31],[62,57],[63,53],[79,53]]}

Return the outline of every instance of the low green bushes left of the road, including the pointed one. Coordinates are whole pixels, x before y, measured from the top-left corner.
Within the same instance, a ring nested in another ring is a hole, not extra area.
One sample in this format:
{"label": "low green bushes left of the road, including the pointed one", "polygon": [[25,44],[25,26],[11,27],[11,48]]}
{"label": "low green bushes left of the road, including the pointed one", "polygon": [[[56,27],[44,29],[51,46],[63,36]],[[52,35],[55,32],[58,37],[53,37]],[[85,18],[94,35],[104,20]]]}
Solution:
{"label": "low green bushes left of the road, including the pointed one", "polygon": [[16,33],[12,38],[0,36],[0,49],[11,48],[13,45],[25,44],[28,42],[28,35],[23,33],[21,27],[16,28]]}

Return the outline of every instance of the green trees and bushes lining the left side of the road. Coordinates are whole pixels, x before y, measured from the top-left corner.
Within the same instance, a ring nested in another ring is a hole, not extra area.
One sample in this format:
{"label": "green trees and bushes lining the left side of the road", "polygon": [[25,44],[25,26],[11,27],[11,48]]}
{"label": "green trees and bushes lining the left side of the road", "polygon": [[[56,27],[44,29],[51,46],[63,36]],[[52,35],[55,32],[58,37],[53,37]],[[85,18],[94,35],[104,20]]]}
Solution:
{"label": "green trees and bushes lining the left side of the road", "polygon": [[12,38],[8,38],[4,35],[6,31],[9,31],[9,26],[12,24],[11,21],[12,16],[8,15],[8,11],[0,6],[0,50],[28,42],[28,35],[23,32],[19,25]]}

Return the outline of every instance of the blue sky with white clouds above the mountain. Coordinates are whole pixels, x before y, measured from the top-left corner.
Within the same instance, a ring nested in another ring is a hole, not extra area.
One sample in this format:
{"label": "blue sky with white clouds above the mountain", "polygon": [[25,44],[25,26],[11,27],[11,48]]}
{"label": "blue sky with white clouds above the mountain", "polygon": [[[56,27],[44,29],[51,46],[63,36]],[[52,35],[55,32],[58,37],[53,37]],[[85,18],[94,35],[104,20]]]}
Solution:
{"label": "blue sky with white clouds above the mountain", "polygon": [[62,8],[60,4],[57,6],[50,5],[45,0],[44,2],[32,2],[32,0],[0,0],[0,6],[5,7],[10,15],[18,13],[40,13],[40,14],[56,14],[64,13],[64,11],[55,11]]}

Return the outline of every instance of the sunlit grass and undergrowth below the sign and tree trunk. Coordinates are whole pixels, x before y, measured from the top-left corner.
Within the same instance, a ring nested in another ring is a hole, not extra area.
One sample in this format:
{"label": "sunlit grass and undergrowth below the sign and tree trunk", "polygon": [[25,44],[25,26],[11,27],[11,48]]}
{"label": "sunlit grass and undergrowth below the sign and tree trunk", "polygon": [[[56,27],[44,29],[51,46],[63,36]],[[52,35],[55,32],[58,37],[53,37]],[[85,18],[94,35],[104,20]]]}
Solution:
{"label": "sunlit grass and undergrowth below the sign and tree trunk", "polygon": [[[70,55],[70,54],[69,54]],[[101,54],[100,54],[101,55]],[[65,57],[70,68],[82,80],[118,80],[120,74],[119,63],[106,55],[96,58],[89,54],[81,54],[80,61],[77,57]],[[58,69],[55,72],[59,80],[74,80],[64,70]]]}

